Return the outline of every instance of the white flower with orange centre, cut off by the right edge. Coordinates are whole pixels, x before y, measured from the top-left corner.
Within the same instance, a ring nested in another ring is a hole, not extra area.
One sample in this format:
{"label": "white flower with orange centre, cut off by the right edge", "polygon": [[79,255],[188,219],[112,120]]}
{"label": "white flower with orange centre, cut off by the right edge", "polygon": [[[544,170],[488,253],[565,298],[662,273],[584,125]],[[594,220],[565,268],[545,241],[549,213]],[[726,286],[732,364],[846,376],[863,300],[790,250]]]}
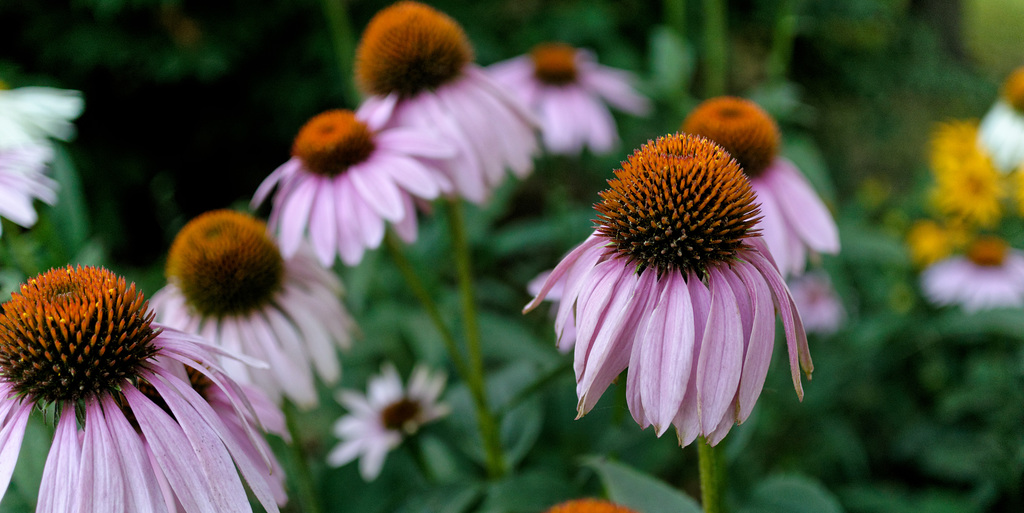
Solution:
{"label": "white flower with orange centre, cut off by the right edge", "polygon": [[1004,173],[1024,165],[1024,67],[1002,84],[1002,91],[981,120],[977,141]]}

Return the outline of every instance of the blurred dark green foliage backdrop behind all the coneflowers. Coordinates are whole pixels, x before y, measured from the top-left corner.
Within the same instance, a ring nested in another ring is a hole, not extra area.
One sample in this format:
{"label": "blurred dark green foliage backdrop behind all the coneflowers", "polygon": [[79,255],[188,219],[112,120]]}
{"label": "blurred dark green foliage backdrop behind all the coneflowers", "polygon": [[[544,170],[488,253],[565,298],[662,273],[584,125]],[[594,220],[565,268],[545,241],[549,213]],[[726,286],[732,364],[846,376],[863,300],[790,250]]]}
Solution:
{"label": "blurred dark green foliage backdrop behind all the coneflowers", "polygon": [[[701,99],[708,2],[681,3],[675,17],[667,16],[672,2],[639,0],[430,3],[463,25],[481,65],[564,41],[637,73],[657,109],[648,119],[616,116],[618,152],[542,159],[529,178],[510,179],[495,201],[471,210],[493,402],[509,401],[503,422],[520,455],[512,459],[518,472],[484,483],[458,470],[474,450],[439,440],[465,436],[472,445],[473,435],[460,431],[471,425],[453,421],[424,440],[440,484],[410,478],[412,460],[400,452],[369,486],[351,466],[321,465],[317,486],[329,511],[540,511],[545,501],[631,482],[609,461],[697,495],[692,447],[640,432],[621,386],[572,420],[568,356],[552,347],[543,313],[518,312],[526,282],[589,232],[590,206],[618,161],[675,131]],[[353,37],[387,4],[347,2]],[[755,416],[724,443],[732,509],[1024,511],[1024,312],[967,316],[927,306],[902,244],[922,210],[933,124],[982,116],[1004,77],[1024,63],[1024,2],[725,4],[727,91],[777,117],[783,153],[833,207],[844,248],[823,265],[849,313],[840,333],[812,340],[816,372],[803,403],[786,383],[784,350],[776,351]],[[70,177],[61,180],[61,203],[42,208],[31,231],[12,236],[7,256],[18,270],[5,269],[0,286],[10,290],[26,274],[84,261],[155,292],[184,222],[244,208],[288,159],[298,127],[324,110],[356,105],[347,92],[350,71],[338,62],[325,6],[311,0],[0,0],[0,78],[14,87],[79,89],[86,99],[79,135],[56,165]],[[17,231],[9,228],[5,238]],[[445,230],[442,219],[424,220],[409,250],[414,264],[433,269],[446,261]],[[346,386],[361,388],[385,357],[406,371],[421,359],[445,366],[387,255],[339,272],[362,328],[345,356]],[[428,279],[441,304],[457,301],[451,272]],[[524,383],[536,388],[517,394]],[[449,398],[472,417],[461,385]],[[325,389],[303,440],[311,454],[334,443],[326,433],[340,412]],[[599,459],[581,460],[586,455]],[[396,497],[395,486],[406,493]],[[34,501],[34,493],[23,496]],[[516,502],[523,497],[536,499]]]}

